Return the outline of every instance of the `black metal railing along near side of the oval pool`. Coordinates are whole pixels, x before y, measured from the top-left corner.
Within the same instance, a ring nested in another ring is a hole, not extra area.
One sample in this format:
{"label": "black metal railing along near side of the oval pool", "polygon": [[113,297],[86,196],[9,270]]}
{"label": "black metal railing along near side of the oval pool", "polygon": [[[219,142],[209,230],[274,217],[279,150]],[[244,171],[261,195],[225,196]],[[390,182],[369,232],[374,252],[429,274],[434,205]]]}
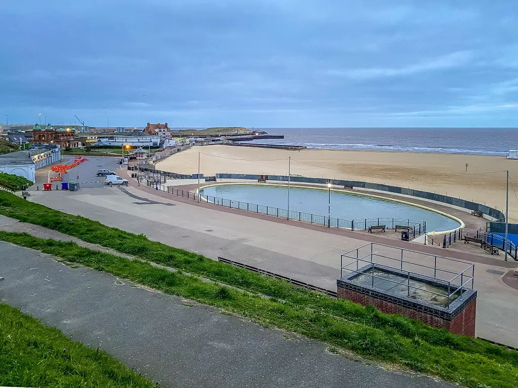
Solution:
{"label": "black metal railing along near side of the oval pool", "polygon": [[371,226],[385,226],[387,229],[404,229],[408,231],[409,238],[418,237],[426,233],[426,221],[411,220],[408,218],[363,218],[356,220],[343,220],[327,215],[304,213],[301,211],[281,209],[273,206],[257,205],[249,202],[242,202],[233,199],[218,198],[211,195],[201,195],[198,197],[196,192],[189,190],[177,189],[172,186],[160,186],[162,191],[172,195],[184,198],[202,200],[216,206],[224,206],[233,209],[251,211],[258,214],[273,215],[289,220],[303,221],[311,224],[327,226],[329,228],[350,229],[351,231],[363,230],[368,231]]}

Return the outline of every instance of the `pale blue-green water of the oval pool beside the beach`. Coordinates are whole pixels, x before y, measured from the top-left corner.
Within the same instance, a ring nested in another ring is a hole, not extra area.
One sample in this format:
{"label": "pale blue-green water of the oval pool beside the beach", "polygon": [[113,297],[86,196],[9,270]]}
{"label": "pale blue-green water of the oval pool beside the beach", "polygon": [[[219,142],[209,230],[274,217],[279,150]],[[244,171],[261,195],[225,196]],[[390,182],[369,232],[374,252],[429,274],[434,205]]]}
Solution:
{"label": "pale blue-green water of the oval pool beside the beach", "polygon": [[[200,191],[202,196],[213,202],[217,197],[226,200],[248,202],[274,208],[287,208],[287,187],[253,184],[222,184]],[[369,218],[408,218],[426,221],[428,232],[448,231],[459,227],[459,223],[445,215],[416,206],[347,192],[331,191],[331,217],[343,220]],[[328,190],[291,187],[290,210],[325,215],[329,205]],[[291,216],[290,216],[291,217]]]}

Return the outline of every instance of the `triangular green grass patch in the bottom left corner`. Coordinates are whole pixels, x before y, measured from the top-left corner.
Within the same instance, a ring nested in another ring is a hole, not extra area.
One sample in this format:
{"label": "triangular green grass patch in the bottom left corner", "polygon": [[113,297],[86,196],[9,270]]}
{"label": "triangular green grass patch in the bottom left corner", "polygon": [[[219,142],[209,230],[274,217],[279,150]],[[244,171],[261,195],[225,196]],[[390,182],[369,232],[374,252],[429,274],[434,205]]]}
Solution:
{"label": "triangular green grass patch in the bottom left corner", "polygon": [[149,379],[0,303],[0,385],[152,388]]}

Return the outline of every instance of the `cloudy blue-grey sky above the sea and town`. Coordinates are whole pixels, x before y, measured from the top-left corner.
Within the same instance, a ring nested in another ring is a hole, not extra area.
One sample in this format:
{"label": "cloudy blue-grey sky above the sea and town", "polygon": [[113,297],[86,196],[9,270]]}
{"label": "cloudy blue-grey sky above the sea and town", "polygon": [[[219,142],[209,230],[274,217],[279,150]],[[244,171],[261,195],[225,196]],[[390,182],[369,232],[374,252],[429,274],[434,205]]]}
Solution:
{"label": "cloudy blue-grey sky above the sea and town", "polygon": [[518,127],[516,0],[1,3],[0,122]]}

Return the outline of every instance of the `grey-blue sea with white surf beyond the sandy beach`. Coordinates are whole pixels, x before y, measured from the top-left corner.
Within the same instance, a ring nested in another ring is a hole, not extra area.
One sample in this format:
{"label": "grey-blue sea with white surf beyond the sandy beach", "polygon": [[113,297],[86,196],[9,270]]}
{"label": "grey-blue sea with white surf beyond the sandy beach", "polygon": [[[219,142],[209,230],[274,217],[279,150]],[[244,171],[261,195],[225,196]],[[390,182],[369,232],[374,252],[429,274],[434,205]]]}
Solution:
{"label": "grey-blue sea with white surf beyond the sandy beach", "polygon": [[255,143],[307,148],[506,155],[518,128],[254,128],[284,139]]}

